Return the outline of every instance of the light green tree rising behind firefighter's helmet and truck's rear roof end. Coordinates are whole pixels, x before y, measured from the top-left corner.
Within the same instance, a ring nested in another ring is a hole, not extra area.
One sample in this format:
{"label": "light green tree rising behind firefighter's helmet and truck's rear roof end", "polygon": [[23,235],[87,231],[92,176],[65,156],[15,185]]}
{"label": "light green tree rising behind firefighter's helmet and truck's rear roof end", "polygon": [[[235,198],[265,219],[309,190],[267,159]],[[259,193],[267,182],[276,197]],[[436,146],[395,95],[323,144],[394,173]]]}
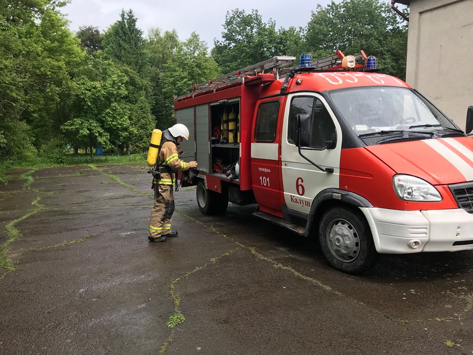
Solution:
{"label": "light green tree rising behind firefighter's helmet and truck's rear roof end", "polygon": [[206,42],[201,41],[199,35],[193,32],[189,39],[179,45],[176,53],[164,66],[161,78],[166,110],[159,117],[160,127],[167,127],[172,123],[173,95],[185,94],[193,84],[220,76],[217,63],[207,52]]}

